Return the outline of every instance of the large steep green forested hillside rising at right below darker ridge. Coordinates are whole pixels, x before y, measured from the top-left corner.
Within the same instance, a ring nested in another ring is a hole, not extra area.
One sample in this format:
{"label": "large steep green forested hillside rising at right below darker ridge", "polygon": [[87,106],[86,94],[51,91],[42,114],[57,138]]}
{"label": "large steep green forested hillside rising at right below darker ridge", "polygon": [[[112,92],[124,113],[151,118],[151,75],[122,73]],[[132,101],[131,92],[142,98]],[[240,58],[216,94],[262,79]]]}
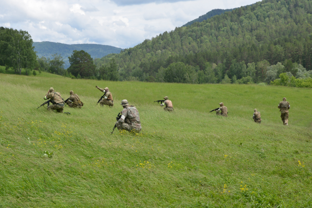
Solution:
{"label": "large steep green forested hillside rising at right below darker ridge", "polygon": [[221,82],[225,75],[240,79],[246,75],[246,64],[254,63],[254,81],[260,82],[266,79],[266,67],[278,62],[312,68],[311,13],[308,0],[264,0],[166,31],[95,63],[100,67],[114,57],[120,80],[162,81],[164,68],[182,62],[195,67],[199,77],[217,78],[209,83]]}

